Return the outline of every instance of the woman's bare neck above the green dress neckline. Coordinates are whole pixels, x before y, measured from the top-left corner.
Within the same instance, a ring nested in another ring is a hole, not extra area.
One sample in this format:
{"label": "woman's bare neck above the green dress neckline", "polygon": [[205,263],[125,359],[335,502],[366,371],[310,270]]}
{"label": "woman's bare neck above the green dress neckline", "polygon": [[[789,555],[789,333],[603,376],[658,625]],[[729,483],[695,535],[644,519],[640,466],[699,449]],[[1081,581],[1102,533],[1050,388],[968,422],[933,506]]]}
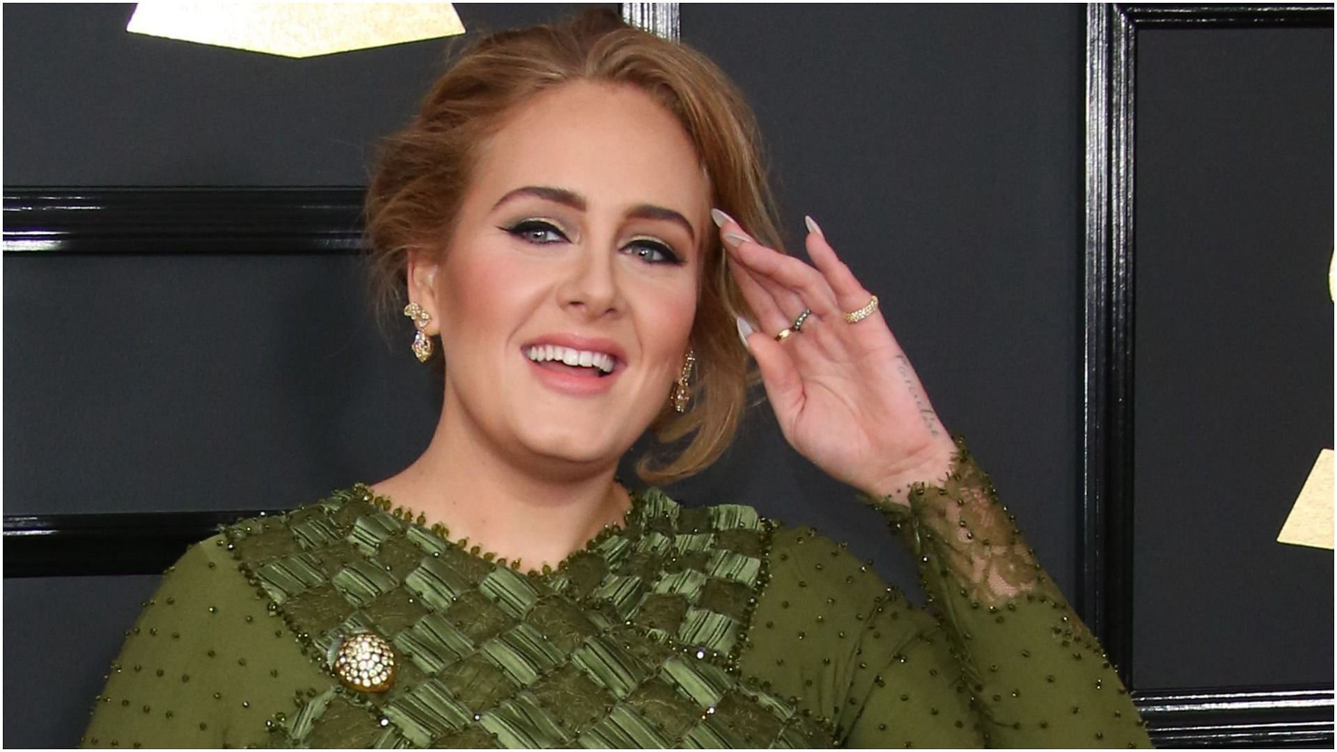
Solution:
{"label": "woman's bare neck above the green dress neckline", "polygon": [[373,492],[524,569],[556,566],[603,527],[620,525],[631,499],[614,480],[616,463],[572,471],[541,458],[524,462],[488,442],[451,401],[422,456]]}

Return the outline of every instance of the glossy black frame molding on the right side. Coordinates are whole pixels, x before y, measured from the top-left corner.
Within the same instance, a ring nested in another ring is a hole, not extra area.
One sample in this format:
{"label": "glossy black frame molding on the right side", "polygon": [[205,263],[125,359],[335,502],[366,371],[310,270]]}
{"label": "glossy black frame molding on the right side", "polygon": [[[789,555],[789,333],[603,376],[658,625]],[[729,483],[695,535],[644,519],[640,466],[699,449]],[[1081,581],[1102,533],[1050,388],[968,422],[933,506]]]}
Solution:
{"label": "glossy black frame molding on the right side", "polygon": [[1332,28],[1332,5],[1087,5],[1082,585],[1078,610],[1157,745],[1333,744],[1333,685],[1139,690],[1132,676],[1136,37],[1147,28]]}

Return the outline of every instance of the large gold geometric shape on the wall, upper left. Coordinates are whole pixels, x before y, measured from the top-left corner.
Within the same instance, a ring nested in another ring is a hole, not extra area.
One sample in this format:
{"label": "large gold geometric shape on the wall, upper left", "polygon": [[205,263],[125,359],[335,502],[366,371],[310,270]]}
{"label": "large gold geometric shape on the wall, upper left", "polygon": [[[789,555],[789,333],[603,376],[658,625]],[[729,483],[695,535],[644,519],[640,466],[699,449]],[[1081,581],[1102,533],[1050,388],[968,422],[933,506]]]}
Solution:
{"label": "large gold geometric shape on the wall, upper left", "polygon": [[464,33],[452,3],[139,3],[126,31],[312,58]]}

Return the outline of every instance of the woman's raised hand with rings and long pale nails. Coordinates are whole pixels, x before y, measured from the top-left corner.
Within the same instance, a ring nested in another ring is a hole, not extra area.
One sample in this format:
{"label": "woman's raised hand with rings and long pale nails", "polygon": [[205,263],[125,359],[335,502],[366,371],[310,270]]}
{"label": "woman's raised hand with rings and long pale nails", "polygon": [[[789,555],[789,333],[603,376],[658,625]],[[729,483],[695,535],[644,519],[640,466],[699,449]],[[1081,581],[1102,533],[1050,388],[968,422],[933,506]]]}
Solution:
{"label": "woman's raised hand with rings and long pale nails", "polygon": [[[809,265],[755,242],[723,211],[711,217],[759,318],[747,348],[785,439],[837,480],[898,503],[910,483],[945,478],[956,448],[951,435],[881,310],[845,320],[873,296],[817,223],[805,218]],[[812,313],[794,331],[805,309]]]}

